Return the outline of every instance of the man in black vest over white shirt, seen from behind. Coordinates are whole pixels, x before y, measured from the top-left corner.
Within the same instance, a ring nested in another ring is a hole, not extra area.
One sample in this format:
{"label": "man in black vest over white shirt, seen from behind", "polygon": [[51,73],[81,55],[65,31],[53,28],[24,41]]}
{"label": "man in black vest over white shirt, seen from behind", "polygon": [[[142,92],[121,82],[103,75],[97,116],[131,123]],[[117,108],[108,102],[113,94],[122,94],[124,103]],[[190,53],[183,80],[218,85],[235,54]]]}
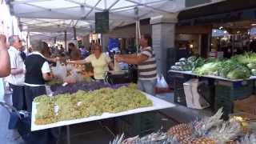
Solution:
{"label": "man in black vest over white shirt, seen from behind", "polygon": [[26,106],[29,112],[32,110],[33,99],[46,94],[45,82],[52,79],[50,66],[42,55],[44,50],[42,41],[31,42],[33,52],[26,58],[25,94]]}

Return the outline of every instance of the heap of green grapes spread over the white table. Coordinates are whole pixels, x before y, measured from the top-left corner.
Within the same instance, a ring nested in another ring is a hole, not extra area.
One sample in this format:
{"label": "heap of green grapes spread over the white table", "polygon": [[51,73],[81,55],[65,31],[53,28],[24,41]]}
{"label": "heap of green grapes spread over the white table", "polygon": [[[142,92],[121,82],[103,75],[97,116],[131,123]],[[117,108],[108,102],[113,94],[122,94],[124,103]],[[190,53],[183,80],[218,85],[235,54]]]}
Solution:
{"label": "heap of green grapes spread over the white table", "polygon": [[118,89],[102,88],[90,92],[78,90],[74,94],[59,94],[54,97],[42,95],[34,98],[34,102],[38,102],[35,115],[37,125],[153,105],[146,95],[137,90],[135,84]]}

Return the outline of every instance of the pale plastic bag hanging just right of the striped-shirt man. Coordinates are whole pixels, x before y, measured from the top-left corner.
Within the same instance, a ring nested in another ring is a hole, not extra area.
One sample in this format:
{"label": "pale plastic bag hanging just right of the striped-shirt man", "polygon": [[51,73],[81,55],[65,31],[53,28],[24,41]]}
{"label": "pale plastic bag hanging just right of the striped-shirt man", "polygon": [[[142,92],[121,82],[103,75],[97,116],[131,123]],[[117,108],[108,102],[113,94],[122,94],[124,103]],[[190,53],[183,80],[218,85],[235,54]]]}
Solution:
{"label": "pale plastic bag hanging just right of the striped-shirt man", "polygon": [[155,86],[155,93],[161,94],[161,93],[168,93],[168,92],[170,92],[170,88],[166,82],[166,79],[162,74],[158,75],[157,84]]}

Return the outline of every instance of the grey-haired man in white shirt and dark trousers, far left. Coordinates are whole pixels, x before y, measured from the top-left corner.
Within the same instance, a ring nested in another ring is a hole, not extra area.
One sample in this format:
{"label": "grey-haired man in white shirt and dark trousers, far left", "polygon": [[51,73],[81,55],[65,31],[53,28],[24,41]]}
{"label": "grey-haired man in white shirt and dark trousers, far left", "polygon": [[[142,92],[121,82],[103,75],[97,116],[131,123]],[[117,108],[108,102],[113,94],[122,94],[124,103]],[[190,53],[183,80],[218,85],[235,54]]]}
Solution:
{"label": "grey-haired man in white shirt and dark trousers, far left", "polygon": [[26,98],[24,87],[24,62],[21,57],[22,40],[17,35],[10,36],[8,39],[10,48],[10,75],[6,77],[6,82],[9,83],[13,90],[12,102],[17,110],[26,110]]}

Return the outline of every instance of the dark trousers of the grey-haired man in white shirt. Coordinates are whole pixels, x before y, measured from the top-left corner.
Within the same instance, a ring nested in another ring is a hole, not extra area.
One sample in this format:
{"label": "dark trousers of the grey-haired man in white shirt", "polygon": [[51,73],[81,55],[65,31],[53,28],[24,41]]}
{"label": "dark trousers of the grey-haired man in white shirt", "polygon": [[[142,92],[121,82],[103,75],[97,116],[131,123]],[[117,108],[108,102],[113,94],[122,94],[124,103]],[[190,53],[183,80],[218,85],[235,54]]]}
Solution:
{"label": "dark trousers of the grey-haired man in white shirt", "polygon": [[25,86],[16,86],[16,85],[10,84],[10,88],[13,90],[13,94],[12,94],[13,106],[17,110],[26,110]]}

